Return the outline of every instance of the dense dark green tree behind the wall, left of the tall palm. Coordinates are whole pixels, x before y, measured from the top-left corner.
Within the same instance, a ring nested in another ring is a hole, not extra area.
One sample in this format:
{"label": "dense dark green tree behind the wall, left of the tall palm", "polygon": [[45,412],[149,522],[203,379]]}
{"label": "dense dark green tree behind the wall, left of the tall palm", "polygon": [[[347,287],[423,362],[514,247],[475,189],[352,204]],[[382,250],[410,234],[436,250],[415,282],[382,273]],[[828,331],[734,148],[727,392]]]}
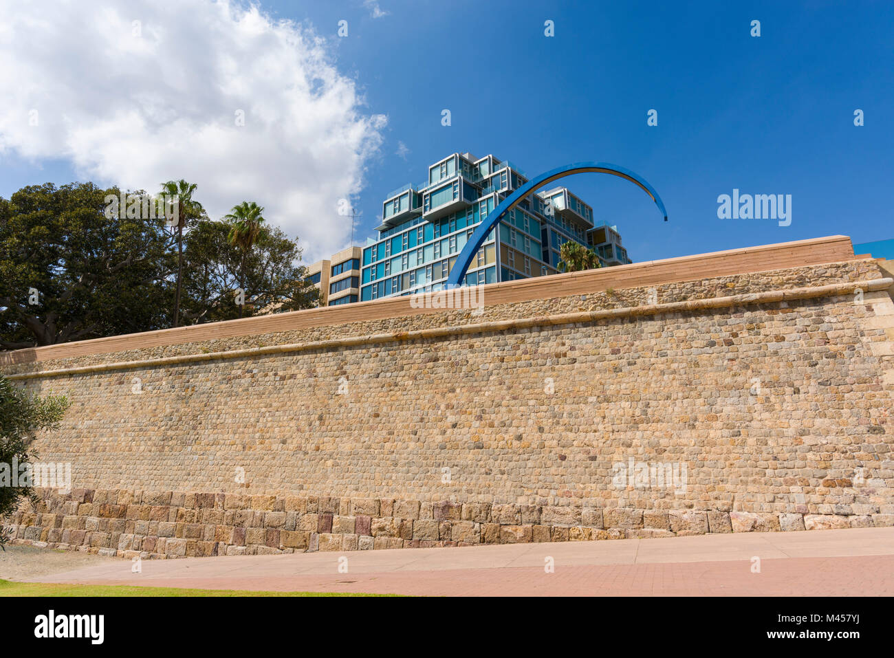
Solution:
{"label": "dense dark green tree behind the wall, left of the tall palm", "polygon": [[0,198],[0,348],[170,326],[173,238],[164,216],[106,212],[119,194],[46,183]]}

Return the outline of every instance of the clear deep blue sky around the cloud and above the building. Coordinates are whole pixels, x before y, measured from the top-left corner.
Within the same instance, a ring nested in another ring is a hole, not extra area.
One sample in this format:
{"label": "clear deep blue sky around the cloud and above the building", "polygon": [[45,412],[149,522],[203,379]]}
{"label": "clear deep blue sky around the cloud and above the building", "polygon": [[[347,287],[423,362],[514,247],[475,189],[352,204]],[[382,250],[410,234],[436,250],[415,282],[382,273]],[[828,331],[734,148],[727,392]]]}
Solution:
{"label": "clear deep blue sky around the cloud and above the building", "polygon": [[[580,160],[639,173],[669,222],[628,181],[565,180],[597,222],[617,224],[635,262],[841,233],[894,237],[894,4],[680,5],[380,0],[379,17],[360,0],[259,6],[308,21],[367,113],[387,116],[355,198],[358,243],[388,191],[457,151],[493,153],[532,176]],[[346,38],[336,35],[342,20]],[[0,159],[4,197],[77,178],[65,160]],[[790,194],[791,224],[718,219],[718,195],[734,188]]]}

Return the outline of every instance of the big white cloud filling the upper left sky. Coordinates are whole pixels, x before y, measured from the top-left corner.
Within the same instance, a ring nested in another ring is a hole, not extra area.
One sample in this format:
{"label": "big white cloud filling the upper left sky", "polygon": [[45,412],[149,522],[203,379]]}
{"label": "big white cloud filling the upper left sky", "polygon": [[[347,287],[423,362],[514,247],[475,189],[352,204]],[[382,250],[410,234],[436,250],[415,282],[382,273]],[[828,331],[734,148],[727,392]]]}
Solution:
{"label": "big white cloud filling the upper left sky", "polygon": [[385,124],[328,48],[230,0],[0,0],[0,157],[153,192],[185,178],[212,217],[257,201],[325,257],[350,240],[339,199]]}

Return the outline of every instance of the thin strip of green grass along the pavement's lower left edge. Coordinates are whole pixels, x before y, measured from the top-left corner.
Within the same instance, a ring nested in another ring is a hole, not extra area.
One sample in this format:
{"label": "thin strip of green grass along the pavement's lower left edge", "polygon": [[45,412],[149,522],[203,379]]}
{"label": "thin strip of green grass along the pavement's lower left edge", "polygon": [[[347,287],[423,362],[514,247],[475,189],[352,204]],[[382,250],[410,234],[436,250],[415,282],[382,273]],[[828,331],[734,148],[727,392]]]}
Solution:
{"label": "thin strip of green grass along the pavement's lower left edge", "polygon": [[131,585],[65,585],[0,580],[0,596],[389,596],[326,592],[251,592],[239,589],[179,589]]}

